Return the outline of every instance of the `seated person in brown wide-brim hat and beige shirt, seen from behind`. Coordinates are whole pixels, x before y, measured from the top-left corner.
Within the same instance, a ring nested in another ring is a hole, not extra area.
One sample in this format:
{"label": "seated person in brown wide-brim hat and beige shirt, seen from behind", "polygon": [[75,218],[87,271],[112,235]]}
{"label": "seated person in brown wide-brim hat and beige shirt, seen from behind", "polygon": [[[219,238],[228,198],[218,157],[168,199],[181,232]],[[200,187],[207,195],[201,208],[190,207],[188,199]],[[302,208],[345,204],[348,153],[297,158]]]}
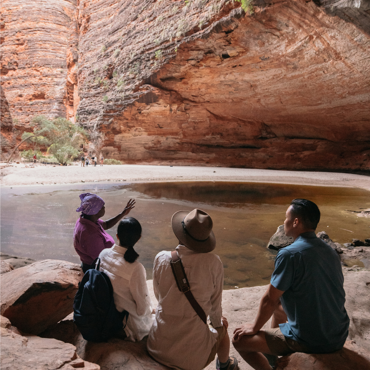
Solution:
{"label": "seated person in brown wide-brim hat and beige shirt, seen from behind", "polygon": [[171,225],[179,245],[174,252],[159,252],[154,260],[158,306],[148,336],[149,354],[173,369],[201,370],[217,353],[217,369],[236,370],[238,361],[229,357],[228,322],[222,316],[223,265],[208,253],[216,246],[211,216],[200,209],[179,211]]}

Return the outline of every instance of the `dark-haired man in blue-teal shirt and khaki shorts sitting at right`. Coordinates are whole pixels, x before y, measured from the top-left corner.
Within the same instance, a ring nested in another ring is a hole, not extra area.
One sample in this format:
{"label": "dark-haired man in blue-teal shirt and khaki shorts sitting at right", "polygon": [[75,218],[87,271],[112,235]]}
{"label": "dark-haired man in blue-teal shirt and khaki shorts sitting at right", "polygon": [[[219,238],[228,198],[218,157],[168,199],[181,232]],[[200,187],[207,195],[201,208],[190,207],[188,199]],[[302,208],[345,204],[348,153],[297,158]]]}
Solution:
{"label": "dark-haired man in blue-teal shirt and khaki shorts sitting at right", "polygon": [[[263,354],[331,353],[346,341],[342,266],[337,252],[316,237],[319,221],[319,208],[306,199],[294,199],[286,211],[285,235],[294,242],[277,253],[255,322],[234,331],[233,345],[253,369],[271,370]],[[271,329],[260,330],[271,316]]]}

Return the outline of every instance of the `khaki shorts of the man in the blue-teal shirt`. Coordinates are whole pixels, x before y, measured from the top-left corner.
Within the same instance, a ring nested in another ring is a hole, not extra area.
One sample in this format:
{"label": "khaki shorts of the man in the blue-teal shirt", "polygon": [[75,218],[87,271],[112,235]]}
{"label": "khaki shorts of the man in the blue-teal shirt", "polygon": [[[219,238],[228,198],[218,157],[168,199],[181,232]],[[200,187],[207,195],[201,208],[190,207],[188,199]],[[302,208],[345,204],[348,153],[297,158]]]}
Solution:
{"label": "khaki shorts of the man in the blue-teal shirt", "polygon": [[294,339],[287,338],[279,327],[275,329],[264,329],[263,332],[265,332],[265,338],[270,352],[276,356],[285,356],[293,352],[310,353],[310,350],[306,346]]}

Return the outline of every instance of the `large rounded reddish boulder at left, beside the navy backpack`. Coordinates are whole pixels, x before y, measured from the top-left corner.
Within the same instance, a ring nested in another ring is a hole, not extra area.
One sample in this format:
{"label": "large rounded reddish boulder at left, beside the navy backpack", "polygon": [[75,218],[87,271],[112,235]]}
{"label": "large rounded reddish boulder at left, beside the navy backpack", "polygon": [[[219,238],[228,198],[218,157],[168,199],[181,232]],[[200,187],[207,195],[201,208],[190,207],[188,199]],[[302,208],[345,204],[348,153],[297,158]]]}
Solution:
{"label": "large rounded reddish boulder at left, beside the navy backpack", "polygon": [[1,276],[0,314],[22,332],[38,334],[73,312],[80,265],[43,260]]}

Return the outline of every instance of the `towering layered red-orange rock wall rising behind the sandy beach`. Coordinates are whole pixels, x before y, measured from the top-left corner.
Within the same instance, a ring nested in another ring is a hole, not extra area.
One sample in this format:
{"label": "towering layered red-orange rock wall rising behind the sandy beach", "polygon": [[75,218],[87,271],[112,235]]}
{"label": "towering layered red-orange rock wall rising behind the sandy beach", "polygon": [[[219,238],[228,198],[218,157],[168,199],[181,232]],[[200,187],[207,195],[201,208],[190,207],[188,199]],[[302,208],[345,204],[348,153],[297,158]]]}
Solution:
{"label": "towering layered red-orange rock wall rising behind the sandy beach", "polygon": [[18,132],[62,115],[125,163],[369,169],[369,1],[45,4],[3,2]]}

